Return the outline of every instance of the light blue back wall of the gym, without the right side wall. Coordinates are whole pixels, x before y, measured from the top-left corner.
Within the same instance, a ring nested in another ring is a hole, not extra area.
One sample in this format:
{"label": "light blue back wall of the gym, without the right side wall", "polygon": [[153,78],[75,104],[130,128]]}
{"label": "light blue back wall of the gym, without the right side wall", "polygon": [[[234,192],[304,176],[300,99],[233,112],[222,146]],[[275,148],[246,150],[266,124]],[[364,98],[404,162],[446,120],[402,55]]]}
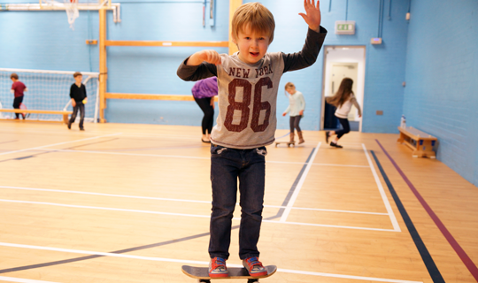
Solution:
{"label": "light blue back wall of the gym, without the right side wall", "polygon": [[[37,3],[36,0],[29,0]],[[117,2],[117,1],[115,1]],[[121,23],[108,16],[108,39],[158,41],[227,41],[228,1],[216,1],[216,25],[202,25],[202,1],[143,0],[119,1]],[[244,1],[247,2],[247,1]],[[276,21],[275,39],[270,51],[301,50],[306,34],[302,0],[261,1]],[[385,15],[389,0],[385,0]],[[25,3],[21,0],[0,0],[0,3]],[[405,80],[405,46],[408,1],[392,0],[391,19],[383,19],[384,44],[372,47],[370,38],[377,36],[380,0],[348,1],[348,19],[357,21],[357,34],[335,35],[335,20],[345,19],[346,0],[322,1],[322,26],[329,31],[327,45],[366,46],[366,86],[364,132],[395,133],[402,114]],[[209,2],[206,11],[209,11]],[[209,14],[207,13],[207,16]],[[8,28],[6,28],[8,27]],[[85,44],[98,38],[96,11],[81,11],[75,30],[69,29],[65,11],[0,11],[0,67],[98,71],[98,49]],[[192,82],[176,76],[177,66],[185,57],[202,48],[109,47],[108,92],[189,95]],[[226,48],[217,48],[227,53]],[[281,88],[293,81],[305,95],[307,108],[301,126],[318,130],[322,89],[323,52],[312,67],[286,73]],[[278,127],[288,128],[289,120],[281,117],[288,105],[281,91],[278,99]],[[383,116],[375,116],[382,110]],[[152,123],[199,125],[202,112],[195,103],[166,101],[108,100],[105,117],[116,123]]]}

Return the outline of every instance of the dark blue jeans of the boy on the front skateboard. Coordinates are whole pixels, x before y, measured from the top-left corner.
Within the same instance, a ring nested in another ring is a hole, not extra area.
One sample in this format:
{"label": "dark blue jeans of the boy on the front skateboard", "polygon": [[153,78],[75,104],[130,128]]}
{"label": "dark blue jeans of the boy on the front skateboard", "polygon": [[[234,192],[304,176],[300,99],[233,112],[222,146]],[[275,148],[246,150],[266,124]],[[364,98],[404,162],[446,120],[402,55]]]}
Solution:
{"label": "dark blue jeans of the boy on the front skateboard", "polygon": [[212,213],[209,255],[227,259],[239,180],[242,208],[239,257],[259,256],[258,238],[264,208],[266,148],[211,147]]}

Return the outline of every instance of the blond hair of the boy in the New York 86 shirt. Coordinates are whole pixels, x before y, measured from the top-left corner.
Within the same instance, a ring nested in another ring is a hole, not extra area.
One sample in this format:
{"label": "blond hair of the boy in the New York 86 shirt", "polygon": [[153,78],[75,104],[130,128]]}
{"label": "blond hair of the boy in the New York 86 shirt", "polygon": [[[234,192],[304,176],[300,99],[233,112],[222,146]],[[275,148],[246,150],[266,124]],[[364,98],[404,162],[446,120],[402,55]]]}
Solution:
{"label": "blond hair of the boy in the New York 86 shirt", "polygon": [[244,27],[251,27],[251,31],[269,36],[269,44],[274,40],[275,22],[274,16],[263,4],[258,2],[241,5],[234,12],[231,22],[232,36],[237,40],[239,31]]}

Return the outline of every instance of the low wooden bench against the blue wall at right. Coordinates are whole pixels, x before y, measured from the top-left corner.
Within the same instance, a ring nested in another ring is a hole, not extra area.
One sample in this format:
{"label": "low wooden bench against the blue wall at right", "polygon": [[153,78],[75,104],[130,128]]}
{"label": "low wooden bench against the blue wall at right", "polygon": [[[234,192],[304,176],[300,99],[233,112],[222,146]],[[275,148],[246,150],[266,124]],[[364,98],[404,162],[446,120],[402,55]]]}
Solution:
{"label": "low wooden bench against the blue wall at right", "polygon": [[400,137],[397,142],[405,143],[406,146],[411,148],[413,150],[412,157],[436,158],[435,151],[433,151],[436,137],[421,132],[412,126],[405,128],[398,126],[398,131],[400,131]]}

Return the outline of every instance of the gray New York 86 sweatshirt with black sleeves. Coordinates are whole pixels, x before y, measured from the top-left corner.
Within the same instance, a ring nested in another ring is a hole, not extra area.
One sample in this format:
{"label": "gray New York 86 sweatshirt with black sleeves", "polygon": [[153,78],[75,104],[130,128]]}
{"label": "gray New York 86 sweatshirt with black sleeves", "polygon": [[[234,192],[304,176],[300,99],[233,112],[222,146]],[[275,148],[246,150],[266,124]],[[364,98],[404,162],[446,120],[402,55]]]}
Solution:
{"label": "gray New York 86 sweatshirt with black sleeves", "polygon": [[238,52],[221,54],[221,65],[203,62],[178,68],[182,80],[202,80],[217,76],[219,117],[213,127],[211,142],[232,149],[254,149],[274,142],[277,125],[276,105],[283,73],[312,65],[319,55],[327,30],[307,32],[302,51],[285,54],[266,53],[254,65],[243,63]]}

